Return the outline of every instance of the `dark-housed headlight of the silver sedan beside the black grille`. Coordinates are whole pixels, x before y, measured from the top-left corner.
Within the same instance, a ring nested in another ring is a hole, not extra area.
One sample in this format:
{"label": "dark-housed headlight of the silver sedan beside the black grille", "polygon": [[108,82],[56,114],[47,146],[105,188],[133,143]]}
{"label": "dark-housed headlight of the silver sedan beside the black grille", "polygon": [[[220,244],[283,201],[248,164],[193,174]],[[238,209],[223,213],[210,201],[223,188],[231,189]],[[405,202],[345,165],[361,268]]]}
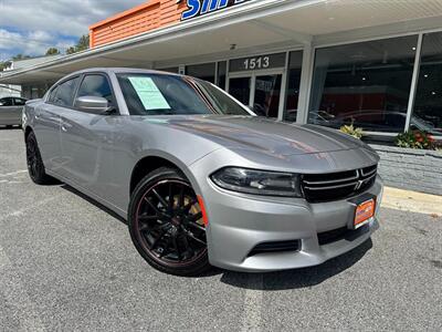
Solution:
{"label": "dark-housed headlight of the silver sedan beside the black grille", "polygon": [[299,175],[239,167],[222,168],[210,177],[221,188],[254,195],[302,197]]}

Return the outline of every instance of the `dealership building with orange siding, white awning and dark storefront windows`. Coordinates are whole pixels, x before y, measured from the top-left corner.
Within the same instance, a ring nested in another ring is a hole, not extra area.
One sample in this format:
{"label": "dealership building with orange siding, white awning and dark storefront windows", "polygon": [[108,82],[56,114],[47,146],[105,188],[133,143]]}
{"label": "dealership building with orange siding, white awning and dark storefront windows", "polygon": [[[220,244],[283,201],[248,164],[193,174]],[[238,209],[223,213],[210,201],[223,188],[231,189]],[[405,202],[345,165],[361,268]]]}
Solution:
{"label": "dealership building with orange siding, white awning and dark storefront windows", "polygon": [[3,72],[40,97],[97,66],[188,74],[259,115],[373,139],[408,128],[442,137],[440,0],[150,0],[90,27],[91,49]]}

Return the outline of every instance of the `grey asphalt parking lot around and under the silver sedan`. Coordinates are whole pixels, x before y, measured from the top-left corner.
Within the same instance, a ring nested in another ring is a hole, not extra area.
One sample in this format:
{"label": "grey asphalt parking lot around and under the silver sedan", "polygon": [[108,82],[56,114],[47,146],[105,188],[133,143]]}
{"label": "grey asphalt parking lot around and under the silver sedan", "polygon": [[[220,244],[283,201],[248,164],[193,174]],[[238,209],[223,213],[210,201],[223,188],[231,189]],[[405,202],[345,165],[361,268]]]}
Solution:
{"label": "grey asphalt parking lot around and under the silver sedan", "polygon": [[382,209],[372,240],[319,267],[178,278],[151,269],[126,225],[25,173],[0,129],[0,331],[442,329],[442,218]]}

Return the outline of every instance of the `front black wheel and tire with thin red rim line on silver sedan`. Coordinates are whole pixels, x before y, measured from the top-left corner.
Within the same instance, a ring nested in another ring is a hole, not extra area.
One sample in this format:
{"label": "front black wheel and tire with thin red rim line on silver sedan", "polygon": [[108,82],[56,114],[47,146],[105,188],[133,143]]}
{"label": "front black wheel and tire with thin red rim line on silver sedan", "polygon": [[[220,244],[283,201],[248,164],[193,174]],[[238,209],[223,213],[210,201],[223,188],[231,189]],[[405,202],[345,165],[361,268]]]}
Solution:
{"label": "front black wheel and tire with thin red rim line on silver sedan", "polygon": [[210,269],[198,198],[177,169],[161,167],[135,188],[128,209],[130,238],[155,269],[181,277]]}

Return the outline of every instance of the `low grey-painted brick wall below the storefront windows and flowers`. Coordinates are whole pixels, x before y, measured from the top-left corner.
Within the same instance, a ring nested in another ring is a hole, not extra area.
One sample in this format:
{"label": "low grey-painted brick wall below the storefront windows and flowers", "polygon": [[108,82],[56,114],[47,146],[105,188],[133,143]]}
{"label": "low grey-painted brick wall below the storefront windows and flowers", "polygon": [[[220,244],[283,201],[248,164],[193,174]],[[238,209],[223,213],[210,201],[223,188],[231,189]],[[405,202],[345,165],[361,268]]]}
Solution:
{"label": "low grey-painted brick wall below the storefront windows and flowers", "polygon": [[371,145],[387,186],[442,195],[442,152]]}

